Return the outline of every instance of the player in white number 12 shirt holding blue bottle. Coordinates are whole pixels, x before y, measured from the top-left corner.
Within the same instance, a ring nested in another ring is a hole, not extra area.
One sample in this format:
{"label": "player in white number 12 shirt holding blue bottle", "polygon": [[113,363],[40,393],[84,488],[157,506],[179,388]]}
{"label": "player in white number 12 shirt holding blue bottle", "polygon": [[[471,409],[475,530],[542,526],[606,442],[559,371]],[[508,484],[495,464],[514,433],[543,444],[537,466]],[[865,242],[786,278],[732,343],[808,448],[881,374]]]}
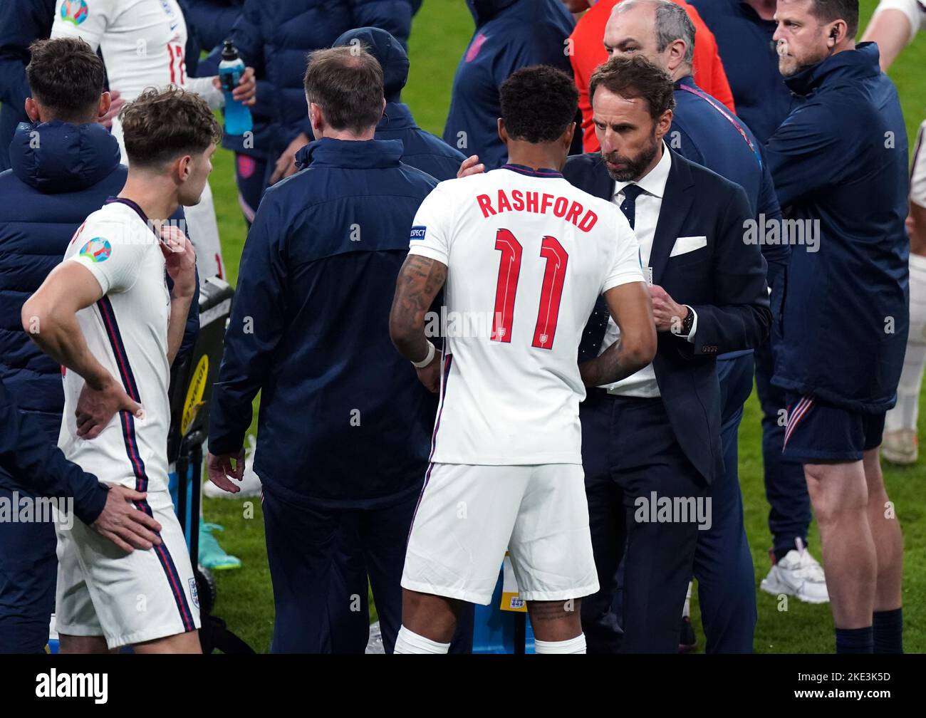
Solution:
{"label": "player in white number 12 shirt holding blue bottle", "polygon": [[[94,50],[100,48],[109,89],[123,100],[131,102],[147,87],[173,84],[200,94],[213,109],[225,103],[218,78],[186,75],[187,29],[177,0],[57,0],[52,37],[79,37]],[[255,89],[254,70],[249,68],[234,96],[253,104]],[[119,140],[122,162],[128,164],[118,118],[112,132]],[[222,276],[219,225],[208,183],[202,200],[185,214],[200,276]]]}

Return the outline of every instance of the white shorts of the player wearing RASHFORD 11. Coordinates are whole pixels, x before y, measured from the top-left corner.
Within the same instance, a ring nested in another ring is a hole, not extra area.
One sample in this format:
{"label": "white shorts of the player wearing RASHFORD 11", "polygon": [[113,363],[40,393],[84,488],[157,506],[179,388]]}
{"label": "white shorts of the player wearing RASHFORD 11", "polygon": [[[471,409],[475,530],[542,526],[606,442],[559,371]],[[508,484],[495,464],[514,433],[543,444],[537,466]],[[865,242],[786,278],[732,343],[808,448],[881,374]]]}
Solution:
{"label": "white shorts of the player wearing RASHFORD 11", "polygon": [[598,590],[580,464],[432,464],[408,537],[402,586],[487,605],[505,550],[524,600]]}

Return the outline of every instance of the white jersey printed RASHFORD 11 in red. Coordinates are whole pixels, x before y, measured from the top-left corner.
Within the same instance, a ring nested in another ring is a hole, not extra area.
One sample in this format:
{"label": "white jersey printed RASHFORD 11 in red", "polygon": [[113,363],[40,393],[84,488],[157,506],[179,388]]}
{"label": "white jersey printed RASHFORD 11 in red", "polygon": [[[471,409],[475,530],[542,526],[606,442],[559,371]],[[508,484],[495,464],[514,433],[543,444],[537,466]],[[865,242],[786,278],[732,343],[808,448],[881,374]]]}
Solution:
{"label": "white jersey printed RASHFORD 11 in red", "polygon": [[619,209],[508,165],[438,184],[409,252],[447,266],[432,461],[582,463],[582,331],[599,295],[644,281]]}

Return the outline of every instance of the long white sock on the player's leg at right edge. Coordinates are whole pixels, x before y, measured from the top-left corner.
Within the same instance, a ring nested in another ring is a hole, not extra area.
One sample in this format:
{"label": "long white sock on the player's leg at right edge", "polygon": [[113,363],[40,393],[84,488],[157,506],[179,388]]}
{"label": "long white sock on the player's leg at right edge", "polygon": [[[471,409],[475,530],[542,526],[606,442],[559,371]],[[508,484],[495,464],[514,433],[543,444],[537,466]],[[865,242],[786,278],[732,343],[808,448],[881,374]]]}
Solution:
{"label": "long white sock on the player's leg at right edge", "polygon": [[917,430],[920,384],[926,366],[926,257],[910,254],[910,334],[904,370],[897,386],[897,405],[887,412],[884,431]]}

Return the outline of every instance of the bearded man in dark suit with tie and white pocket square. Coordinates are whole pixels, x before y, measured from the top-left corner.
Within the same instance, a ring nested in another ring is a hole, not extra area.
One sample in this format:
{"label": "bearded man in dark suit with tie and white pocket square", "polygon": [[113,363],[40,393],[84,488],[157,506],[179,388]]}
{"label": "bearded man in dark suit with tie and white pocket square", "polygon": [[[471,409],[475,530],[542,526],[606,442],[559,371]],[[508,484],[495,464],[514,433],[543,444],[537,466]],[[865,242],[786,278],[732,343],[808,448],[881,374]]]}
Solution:
{"label": "bearded man in dark suit with tie and white pocket square", "polygon": [[[582,461],[601,590],[582,601],[589,652],[675,652],[698,530],[712,523],[708,485],[724,471],[716,357],[768,334],[766,264],[744,242],[753,216],[737,184],[663,143],[669,76],[644,57],[595,70],[590,95],[601,153],[572,157],[569,182],[619,204],[640,242],[658,332],[656,359],[582,404]],[[666,211],[663,212],[663,205]],[[619,340],[597,307],[580,361]],[[611,611],[625,558],[621,644]]]}

